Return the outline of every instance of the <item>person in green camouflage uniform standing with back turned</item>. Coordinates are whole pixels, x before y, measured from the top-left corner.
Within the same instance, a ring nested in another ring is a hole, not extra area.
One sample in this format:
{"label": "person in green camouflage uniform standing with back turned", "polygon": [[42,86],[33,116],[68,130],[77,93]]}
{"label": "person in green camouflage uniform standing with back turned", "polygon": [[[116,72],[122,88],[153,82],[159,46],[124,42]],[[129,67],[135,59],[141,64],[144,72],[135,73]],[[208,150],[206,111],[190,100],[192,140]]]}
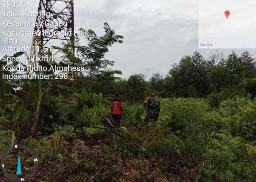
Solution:
{"label": "person in green camouflage uniform standing with back turned", "polygon": [[154,92],[149,93],[149,97],[146,98],[143,104],[146,109],[146,116],[144,122],[148,123],[149,119],[151,119],[153,122],[157,122],[160,112],[160,102],[155,97]]}

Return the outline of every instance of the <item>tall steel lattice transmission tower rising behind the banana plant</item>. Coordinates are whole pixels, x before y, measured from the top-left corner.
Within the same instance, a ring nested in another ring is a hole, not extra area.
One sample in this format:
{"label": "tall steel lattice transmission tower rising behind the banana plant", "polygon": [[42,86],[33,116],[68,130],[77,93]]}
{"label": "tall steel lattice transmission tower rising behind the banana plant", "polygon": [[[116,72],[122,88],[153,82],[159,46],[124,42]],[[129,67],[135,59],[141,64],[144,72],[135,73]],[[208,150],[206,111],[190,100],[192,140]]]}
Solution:
{"label": "tall steel lattice transmission tower rising behind the banana plant", "polygon": [[[33,36],[30,56],[37,56],[39,59],[47,57],[47,49],[49,46],[61,47],[60,43],[74,44],[74,0],[39,0],[37,26],[34,28],[35,36]],[[49,25],[54,24],[54,25]],[[64,24],[66,26],[64,26]],[[51,32],[62,32],[64,37],[53,36]],[[72,50],[74,54],[74,49]],[[63,61],[60,51],[52,52],[54,58]],[[68,85],[74,87],[73,78],[69,78]]]}

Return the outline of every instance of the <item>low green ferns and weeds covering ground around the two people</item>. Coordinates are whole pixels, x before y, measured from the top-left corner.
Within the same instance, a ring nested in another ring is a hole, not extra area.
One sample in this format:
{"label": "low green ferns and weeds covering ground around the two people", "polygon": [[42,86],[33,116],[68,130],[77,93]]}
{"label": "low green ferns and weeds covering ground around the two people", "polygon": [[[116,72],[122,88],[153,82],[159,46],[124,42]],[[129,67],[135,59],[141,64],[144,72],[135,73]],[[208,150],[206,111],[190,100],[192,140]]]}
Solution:
{"label": "low green ferns and weeds covering ground around the two people", "polygon": [[[43,181],[68,175],[70,181],[255,180],[256,99],[226,99],[218,108],[205,99],[160,101],[158,124],[149,126],[142,125],[141,105],[126,104],[122,126],[127,131],[118,134],[93,127],[106,124],[107,103],[98,101],[89,109],[85,105],[74,114],[76,104],[67,110],[60,102],[58,110],[65,116],[58,123],[18,142],[36,149],[47,164],[37,174]],[[10,146],[14,137],[7,128],[1,129],[2,147]]]}

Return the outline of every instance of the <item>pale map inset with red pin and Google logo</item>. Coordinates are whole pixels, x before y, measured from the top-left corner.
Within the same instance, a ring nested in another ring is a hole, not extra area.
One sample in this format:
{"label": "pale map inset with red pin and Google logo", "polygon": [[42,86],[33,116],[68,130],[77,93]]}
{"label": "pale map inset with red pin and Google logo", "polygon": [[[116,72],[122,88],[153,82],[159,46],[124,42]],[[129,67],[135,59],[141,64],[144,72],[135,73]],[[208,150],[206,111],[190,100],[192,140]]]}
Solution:
{"label": "pale map inset with red pin and Google logo", "polygon": [[199,48],[256,48],[256,0],[199,0],[198,41]]}

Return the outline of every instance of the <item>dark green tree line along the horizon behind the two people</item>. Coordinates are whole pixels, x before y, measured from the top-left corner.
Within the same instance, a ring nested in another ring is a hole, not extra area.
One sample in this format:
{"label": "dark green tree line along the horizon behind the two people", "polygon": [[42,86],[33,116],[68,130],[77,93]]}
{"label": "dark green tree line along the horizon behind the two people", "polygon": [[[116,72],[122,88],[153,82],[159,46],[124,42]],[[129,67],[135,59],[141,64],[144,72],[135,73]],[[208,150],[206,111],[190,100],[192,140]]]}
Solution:
{"label": "dark green tree line along the horizon behind the two people", "polygon": [[[104,69],[95,75],[92,92],[112,96],[119,91],[130,102],[142,100],[153,90],[160,97],[209,98],[214,106],[220,100],[256,94],[256,59],[248,51],[241,55],[232,52],[224,56],[216,51],[205,59],[199,52],[184,56],[179,63],[171,65],[164,77],[158,72],[149,80],[143,74],[127,79],[116,75],[121,71]],[[83,79],[76,78],[77,89],[83,88]]]}

